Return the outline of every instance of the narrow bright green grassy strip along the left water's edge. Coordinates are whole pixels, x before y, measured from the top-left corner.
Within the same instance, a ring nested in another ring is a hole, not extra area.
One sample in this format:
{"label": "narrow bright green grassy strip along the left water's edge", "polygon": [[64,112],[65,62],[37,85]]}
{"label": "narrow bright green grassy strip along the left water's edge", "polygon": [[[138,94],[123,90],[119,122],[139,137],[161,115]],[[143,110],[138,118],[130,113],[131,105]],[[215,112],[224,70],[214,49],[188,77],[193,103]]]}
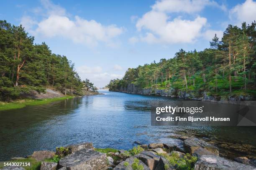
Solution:
{"label": "narrow bright green grassy strip along the left water's edge", "polygon": [[0,110],[11,110],[25,107],[27,105],[43,105],[50,102],[65,100],[73,98],[74,96],[64,96],[64,97],[55,97],[51,99],[23,99],[23,100],[15,100],[13,102],[0,102]]}

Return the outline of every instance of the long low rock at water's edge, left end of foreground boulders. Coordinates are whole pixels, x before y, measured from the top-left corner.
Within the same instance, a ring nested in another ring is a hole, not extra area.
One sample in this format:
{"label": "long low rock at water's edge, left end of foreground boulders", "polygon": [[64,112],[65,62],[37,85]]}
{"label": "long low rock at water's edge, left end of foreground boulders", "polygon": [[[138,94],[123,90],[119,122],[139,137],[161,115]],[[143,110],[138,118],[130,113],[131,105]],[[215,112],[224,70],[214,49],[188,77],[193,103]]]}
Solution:
{"label": "long low rock at water's edge, left end of foreground boulders", "polygon": [[[60,148],[64,148],[64,152],[62,152]],[[76,145],[68,145],[65,147],[56,148],[56,153],[57,155],[66,156],[81,149],[94,149],[94,147],[92,143],[79,143]]]}

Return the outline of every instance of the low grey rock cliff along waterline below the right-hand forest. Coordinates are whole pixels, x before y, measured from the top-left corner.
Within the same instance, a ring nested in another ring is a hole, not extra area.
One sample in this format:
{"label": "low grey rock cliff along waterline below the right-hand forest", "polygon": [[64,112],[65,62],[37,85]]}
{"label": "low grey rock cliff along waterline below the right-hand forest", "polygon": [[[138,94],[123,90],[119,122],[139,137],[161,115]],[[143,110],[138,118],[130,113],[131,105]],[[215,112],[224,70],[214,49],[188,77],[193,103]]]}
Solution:
{"label": "low grey rock cliff along waterline below the right-hand forest", "polygon": [[212,96],[208,92],[197,92],[197,91],[182,91],[177,90],[172,87],[168,89],[156,89],[154,87],[149,88],[139,88],[134,84],[128,84],[126,87],[120,87],[119,89],[111,89],[110,91],[115,92],[125,92],[131,94],[140,95],[159,95],[165,97],[177,97],[185,100],[202,100],[210,102],[220,102],[220,103],[232,103],[236,104],[240,101],[255,100],[253,96],[244,95],[229,95],[229,96]]}

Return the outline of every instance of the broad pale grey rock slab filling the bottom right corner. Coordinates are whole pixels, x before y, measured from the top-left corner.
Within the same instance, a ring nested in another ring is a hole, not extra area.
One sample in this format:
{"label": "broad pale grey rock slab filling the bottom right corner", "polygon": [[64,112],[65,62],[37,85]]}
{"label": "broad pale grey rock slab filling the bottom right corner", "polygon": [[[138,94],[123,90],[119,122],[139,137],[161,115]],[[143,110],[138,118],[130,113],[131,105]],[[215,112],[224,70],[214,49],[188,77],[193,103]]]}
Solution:
{"label": "broad pale grey rock slab filling the bottom right corner", "polygon": [[256,170],[255,167],[227,160],[216,155],[202,155],[195,164],[195,170]]}

